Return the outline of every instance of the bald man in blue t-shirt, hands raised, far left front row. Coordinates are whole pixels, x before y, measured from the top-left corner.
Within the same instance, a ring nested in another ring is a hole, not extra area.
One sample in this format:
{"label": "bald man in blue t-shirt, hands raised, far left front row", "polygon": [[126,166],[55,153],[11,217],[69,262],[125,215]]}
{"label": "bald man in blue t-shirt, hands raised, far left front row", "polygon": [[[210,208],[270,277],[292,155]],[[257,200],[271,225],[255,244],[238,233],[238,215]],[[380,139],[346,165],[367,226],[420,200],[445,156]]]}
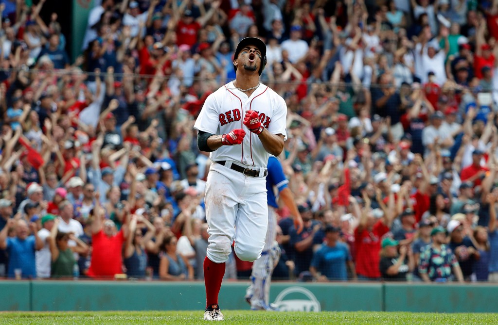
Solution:
{"label": "bald man in blue t-shirt, hands raised, far left front row", "polygon": [[[15,227],[16,237],[7,237],[10,228]],[[31,231],[34,235],[29,235]],[[35,224],[24,220],[8,219],[7,224],[0,231],[0,249],[8,253],[7,277],[14,278],[20,272],[22,278],[35,278],[35,251],[43,248],[43,242],[38,237]]]}

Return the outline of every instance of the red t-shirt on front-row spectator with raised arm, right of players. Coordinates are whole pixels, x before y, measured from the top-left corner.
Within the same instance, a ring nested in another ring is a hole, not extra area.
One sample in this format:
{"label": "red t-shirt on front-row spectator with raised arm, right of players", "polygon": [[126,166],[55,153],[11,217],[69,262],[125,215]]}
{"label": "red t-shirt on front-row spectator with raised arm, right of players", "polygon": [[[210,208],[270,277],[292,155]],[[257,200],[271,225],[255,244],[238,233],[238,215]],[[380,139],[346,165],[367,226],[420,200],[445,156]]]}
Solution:
{"label": "red t-shirt on front-row spectator with raised arm, right of players", "polygon": [[379,278],[380,242],[382,236],[389,232],[389,227],[379,220],[372,231],[355,229],[356,273],[368,278]]}

